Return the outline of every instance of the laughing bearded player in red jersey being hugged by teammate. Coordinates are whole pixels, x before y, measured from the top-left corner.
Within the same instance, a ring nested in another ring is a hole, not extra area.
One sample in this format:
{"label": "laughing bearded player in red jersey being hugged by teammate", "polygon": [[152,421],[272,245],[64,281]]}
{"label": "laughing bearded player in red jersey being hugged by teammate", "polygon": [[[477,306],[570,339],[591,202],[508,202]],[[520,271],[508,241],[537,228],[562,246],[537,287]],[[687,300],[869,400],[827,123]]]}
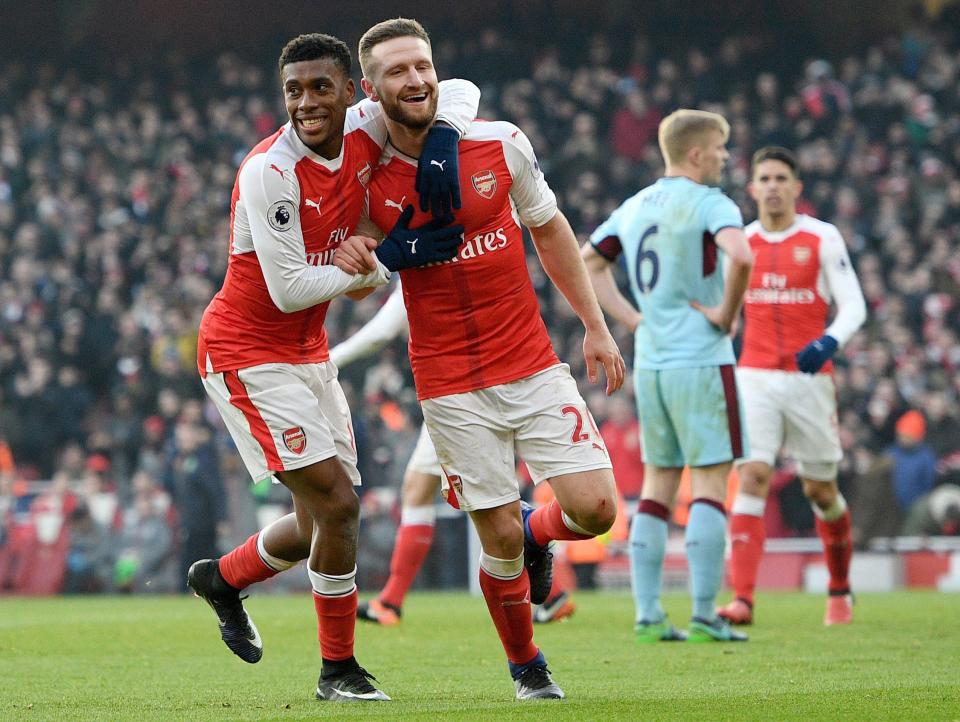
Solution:
{"label": "laughing bearded player in red jersey being hugged by teammate", "polygon": [[[379,99],[390,146],[370,183],[370,218],[397,222],[411,197],[415,158],[433,121],[437,77],[430,40],[414,21],[374,26],[360,40],[363,89]],[[517,699],[563,697],[533,642],[531,600],[550,591],[548,544],[601,534],[616,517],[610,459],[576,382],[557,359],[527,272],[521,222],[544,269],[586,328],[591,380],[623,382],[623,359],[590,287],[576,238],[557,209],[529,141],[502,122],[474,122],[460,141],[466,242],[457,257],[405,272],[410,363],[448,501],[480,537],[480,588],[506,651]],[[402,214],[402,215],[401,215]],[[361,239],[341,247],[346,267],[369,267]],[[353,255],[351,255],[353,254]],[[556,501],[521,513],[514,458]]]}

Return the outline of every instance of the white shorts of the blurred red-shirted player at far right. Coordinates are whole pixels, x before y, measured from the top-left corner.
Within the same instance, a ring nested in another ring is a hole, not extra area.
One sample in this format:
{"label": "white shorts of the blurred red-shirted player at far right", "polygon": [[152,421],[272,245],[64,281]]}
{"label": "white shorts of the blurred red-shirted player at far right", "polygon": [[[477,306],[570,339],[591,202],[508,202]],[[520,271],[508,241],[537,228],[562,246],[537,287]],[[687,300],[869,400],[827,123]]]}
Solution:
{"label": "white shorts of the blurred red-shirted player at far right", "polygon": [[740,463],[773,466],[781,450],[801,464],[843,458],[830,374],[738,368],[737,387],[750,438],[750,453]]}

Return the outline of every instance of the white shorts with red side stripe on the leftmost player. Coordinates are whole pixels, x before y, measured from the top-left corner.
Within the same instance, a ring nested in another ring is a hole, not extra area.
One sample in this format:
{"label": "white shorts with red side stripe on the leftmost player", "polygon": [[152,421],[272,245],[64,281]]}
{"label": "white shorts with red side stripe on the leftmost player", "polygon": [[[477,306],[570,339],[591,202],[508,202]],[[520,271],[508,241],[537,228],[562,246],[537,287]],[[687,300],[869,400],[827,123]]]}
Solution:
{"label": "white shorts with red side stripe on the leftmost player", "polygon": [[209,372],[203,387],[254,481],[336,456],[360,484],[350,409],[334,364]]}

